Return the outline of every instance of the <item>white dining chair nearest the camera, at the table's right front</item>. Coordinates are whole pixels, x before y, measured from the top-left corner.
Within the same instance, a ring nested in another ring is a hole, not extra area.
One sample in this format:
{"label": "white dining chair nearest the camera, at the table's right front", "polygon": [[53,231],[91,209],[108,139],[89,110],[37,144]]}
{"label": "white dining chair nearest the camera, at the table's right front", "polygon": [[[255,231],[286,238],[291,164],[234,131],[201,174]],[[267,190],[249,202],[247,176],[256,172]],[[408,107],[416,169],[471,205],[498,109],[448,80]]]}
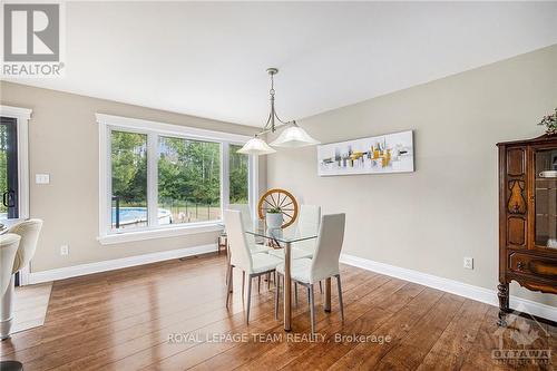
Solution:
{"label": "white dining chair nearest the camera, at the table's right front", "polygon": [[[329,277],[336,277],[339,289],[339,304],[341,319],[344,321],[344,306],[342,303],[341,274],[339,258],[344,240],[345,214],[323,215],[319,230],[315,253],[312,258],[293,260],[291,264],[291,276],[294,282],[307,287],[310,299],[310,321],[312,333],[315,332],[315,305],[313,285]],[[276,273],[284,276],[284,263],[276,267]],[[275,290],[275,316],[278,314],[280,284]]]}

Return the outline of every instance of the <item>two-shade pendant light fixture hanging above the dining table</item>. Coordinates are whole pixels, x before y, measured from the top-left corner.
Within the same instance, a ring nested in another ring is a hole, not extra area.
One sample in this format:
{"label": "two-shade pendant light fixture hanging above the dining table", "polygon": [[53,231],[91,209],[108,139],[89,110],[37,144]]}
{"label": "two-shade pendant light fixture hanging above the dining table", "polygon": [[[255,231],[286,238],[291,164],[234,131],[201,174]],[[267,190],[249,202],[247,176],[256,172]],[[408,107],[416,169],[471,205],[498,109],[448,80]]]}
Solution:
{"label": "two-shade pendant light fixture hanging above the dining table", "polygon": [[[247,140],[247,143],[238,149],[238,154],[246,155],[268,155],[273,154],[276,150],[271,148],[263,139],[258,136],[266,133],[275,133],[277,129],[284,129],[281,135],[271,143],[271,146],[274,147],[284,147],[284,148],[296,148],[296,147],[305,147],[313,146],[320,144],[319,140],[312,138],[304,129],[297,126],[295,120],[292,121],[283,121],[278,118],[275,110],[275,89],[274,89],[274,76],[278,74],[278,69],[268,68],[267,74],[271,77],[271,90],[270,100],[271,100],[271,113],[268,114],[267,121],[265,123],[265,127],[263,131],[257,133],[255,137]],[[278,121],[278,124],[276,123]]]}

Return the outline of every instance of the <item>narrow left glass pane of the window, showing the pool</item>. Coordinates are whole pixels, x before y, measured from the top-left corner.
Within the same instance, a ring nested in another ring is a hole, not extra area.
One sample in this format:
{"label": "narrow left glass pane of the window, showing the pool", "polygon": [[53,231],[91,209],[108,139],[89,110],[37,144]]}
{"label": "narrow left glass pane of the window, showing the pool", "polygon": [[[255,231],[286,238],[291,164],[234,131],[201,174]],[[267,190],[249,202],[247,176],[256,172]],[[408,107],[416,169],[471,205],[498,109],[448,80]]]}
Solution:
{"label": "narrow left glass pane of the window, showing the pool", "polygon": [[147,226],[147,135],[113,130],[111,228]]}

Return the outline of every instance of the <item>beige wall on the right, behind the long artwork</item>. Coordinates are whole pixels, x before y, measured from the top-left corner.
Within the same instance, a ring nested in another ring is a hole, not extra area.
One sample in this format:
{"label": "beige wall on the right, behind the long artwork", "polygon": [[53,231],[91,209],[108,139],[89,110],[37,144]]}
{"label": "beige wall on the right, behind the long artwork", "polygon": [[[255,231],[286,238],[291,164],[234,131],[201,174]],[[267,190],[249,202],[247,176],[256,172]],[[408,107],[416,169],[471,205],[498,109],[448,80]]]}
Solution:
{"label": "beige wall on the right, behind the long artwork", "polygon": [[[346,213],[346,254],[495,290],[496,143],[543,134],[556,66],[553,46],[301,120],[322,143],[413,129],[416,173],[319,177],[311,147],[267,156],[268,186]],[[555,295],[519,295],[557,305]]]}

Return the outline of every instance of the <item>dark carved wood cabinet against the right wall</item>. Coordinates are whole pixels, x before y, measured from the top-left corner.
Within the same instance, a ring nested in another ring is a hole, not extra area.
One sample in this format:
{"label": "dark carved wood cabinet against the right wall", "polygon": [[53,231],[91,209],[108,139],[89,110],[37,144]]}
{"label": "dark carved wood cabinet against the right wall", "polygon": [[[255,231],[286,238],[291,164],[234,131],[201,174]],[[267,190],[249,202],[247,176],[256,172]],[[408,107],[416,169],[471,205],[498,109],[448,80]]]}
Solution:
{"label": "dark carved wood cabinet against the right wall", "polygon": [[557,294],[557,135],[499,143],[499,325],[509,283]]}

